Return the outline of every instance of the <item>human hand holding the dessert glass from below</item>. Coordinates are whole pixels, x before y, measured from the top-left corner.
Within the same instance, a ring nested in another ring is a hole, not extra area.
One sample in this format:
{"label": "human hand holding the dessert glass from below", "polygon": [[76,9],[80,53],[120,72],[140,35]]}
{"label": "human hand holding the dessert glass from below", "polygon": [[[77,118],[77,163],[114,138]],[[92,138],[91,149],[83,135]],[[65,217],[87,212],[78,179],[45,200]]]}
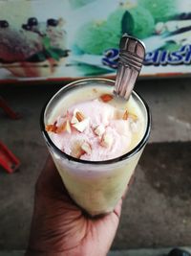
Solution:
{"label": "human hand holding the dessert glass from below", "polygon": [[117,232],[122,198],[114,212],[91,218],[70,198],[48,158],[35,188],[26,256],[105,256]]}

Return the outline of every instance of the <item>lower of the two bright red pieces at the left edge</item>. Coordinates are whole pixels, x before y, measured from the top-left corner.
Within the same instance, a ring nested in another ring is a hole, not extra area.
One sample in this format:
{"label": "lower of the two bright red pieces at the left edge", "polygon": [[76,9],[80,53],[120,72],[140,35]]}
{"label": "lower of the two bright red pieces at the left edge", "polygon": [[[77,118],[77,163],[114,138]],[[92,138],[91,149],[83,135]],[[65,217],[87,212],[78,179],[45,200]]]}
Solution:
{"label": "lower of the two bright red pieces at the left edge", "polygon": [[10,174],[16,171],[20,166],[20,161],[1,141],[0,141],[0,165]]}

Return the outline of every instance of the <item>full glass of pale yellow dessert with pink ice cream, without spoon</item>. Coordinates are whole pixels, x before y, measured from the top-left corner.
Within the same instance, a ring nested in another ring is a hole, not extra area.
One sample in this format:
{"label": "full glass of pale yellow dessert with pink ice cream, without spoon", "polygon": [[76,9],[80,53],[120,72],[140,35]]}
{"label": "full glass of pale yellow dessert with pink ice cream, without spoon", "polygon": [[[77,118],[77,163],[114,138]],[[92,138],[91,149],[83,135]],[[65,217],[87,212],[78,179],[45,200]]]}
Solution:
{"label": "full glass of pale yellow dessert with pink ice cream, without spoon", "polygon": [[113,81],[76,81],[46,106],[43,135],[71,198],[91,216],[114,210],[149,133],[149,115],[133,93],[114,97]]}

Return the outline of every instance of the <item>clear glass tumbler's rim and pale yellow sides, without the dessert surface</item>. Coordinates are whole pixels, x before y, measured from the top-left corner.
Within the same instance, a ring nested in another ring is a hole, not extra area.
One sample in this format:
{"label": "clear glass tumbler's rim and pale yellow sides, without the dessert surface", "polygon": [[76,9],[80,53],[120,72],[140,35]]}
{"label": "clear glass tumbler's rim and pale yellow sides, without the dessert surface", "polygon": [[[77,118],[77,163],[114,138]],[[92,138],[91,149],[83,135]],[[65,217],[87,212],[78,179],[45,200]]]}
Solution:
{"label": "clear glass tumbler's rim and pale yellow sides, without the dessert surface", "polygon": [[77,86],[86,88],[85,86],[97,83],[114,87],[115,81],[84,79],[71,82],[53,96],[41,114],[42,133],[57,171],[71,198],[91,216],[107,214],[115,209],[134,175],[138,159],[148,141],[151,127],[149,108],[144,100],[133,91],[132,96],[142,110],[146,124],[145,132],[133,150],[105,161],[81,160],[59,150],[45,129],[53,108],[60,99],[73,92]]}

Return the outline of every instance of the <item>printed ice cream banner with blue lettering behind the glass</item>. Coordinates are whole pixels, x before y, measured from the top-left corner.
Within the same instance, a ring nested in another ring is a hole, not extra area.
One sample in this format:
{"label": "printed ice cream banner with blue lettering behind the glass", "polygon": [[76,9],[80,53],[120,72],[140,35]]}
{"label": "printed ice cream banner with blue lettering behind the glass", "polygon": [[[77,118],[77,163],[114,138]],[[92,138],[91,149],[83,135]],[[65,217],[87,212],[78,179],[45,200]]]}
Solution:
{"label": "printed ice cream banner with blue lettering behind the glass", "polygon": [[140,76],[191,73],[190,0],[0,0],[0,82],[115,77],[125,33]]}

